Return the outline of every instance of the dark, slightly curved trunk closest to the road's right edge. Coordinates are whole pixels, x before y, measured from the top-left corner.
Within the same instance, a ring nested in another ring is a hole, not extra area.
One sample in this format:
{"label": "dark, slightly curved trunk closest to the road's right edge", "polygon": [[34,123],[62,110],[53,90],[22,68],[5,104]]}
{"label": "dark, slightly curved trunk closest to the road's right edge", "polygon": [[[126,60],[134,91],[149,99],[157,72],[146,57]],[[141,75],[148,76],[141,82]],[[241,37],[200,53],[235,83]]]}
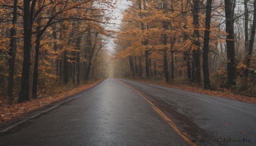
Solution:
{"label": "dark, slightly curved trunk closest to the road's right edge", "polygon": [[203,73],[204,73],[204,89],[211,89],[209,66],[208,66],[208,51],[211,27],[211,11],[212,0],[207,0],[205,30],[204,30],[204,48],[203,48]]}

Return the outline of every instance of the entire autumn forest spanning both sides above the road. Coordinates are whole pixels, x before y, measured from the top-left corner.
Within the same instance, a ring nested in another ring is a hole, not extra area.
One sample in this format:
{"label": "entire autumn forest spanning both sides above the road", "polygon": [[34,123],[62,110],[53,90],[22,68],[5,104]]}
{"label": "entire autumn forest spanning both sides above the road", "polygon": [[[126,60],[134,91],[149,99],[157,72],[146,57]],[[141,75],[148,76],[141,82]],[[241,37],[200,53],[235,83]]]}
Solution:
{"label": "entire autumn forest spanning both sides above the road", "polygon": [[110,29],[118,2],[0,0],[1,104],[107,77],[256,95],[256,1],[128,0]]}

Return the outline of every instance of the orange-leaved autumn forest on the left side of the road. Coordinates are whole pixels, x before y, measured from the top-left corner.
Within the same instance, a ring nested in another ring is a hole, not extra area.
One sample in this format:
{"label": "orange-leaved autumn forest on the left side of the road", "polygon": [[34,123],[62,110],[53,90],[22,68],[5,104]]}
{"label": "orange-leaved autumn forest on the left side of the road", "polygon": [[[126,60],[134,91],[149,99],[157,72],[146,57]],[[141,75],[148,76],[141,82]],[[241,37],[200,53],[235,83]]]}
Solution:
{"label": "orange-leaved autumn forest on the left side of the road", "polygon": [[0,0],[0,104],[106,76],[111,0]]}

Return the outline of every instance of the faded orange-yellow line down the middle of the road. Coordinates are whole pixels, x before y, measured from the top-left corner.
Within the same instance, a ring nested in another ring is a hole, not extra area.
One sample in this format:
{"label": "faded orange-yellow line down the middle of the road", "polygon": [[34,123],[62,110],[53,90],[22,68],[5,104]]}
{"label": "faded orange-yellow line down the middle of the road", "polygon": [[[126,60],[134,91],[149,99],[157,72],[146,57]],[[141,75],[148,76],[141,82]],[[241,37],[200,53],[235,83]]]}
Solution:
{"label": "faded orange-yellow line down the middle of the road", "polygon": [[[119,80],[117,80],[118,82],[120,82]],[[122,83],[122,82],[120,82]],[[128,86],[125,83],[122,83],[125,86]],[[175,130],[175,132],[177,132],[178,135],[180,135],[189,145],[191,146],[196,146],[195,143],[192,142],[192,140],[190,140],[188,137],[186,137],[185,135],[183,135],[180,130],[177,128],[177,126],[175,125],[175,123],[172,122],[172,120],[169,119],[169,117],[167,117],[160,109],[157,108],[157,106],[155,106],[151,101],[149,101],[146,97],[144,97],[140,92],[138,92],[137,90],[133,89],[131,86],[128,86],[129,88],[131,88],[132,90],[134,90],[135,92],[137,92],[141,97],[143,97],[151,106],[152,108],[163,117],[164,120],[166,120],[167,123],[169,123],[169,125]]]}

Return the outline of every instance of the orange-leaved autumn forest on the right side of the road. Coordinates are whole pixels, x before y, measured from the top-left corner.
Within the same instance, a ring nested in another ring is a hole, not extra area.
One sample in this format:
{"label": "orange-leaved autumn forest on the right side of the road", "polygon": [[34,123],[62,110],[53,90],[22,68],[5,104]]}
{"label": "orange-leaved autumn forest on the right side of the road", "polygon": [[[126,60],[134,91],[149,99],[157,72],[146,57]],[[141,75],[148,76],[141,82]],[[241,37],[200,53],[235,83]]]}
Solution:
{"label": "orange-leaved autumn forest on the right side of the road", "polygon": [[256,0],[133,0],[115,76],[256,95]]}

